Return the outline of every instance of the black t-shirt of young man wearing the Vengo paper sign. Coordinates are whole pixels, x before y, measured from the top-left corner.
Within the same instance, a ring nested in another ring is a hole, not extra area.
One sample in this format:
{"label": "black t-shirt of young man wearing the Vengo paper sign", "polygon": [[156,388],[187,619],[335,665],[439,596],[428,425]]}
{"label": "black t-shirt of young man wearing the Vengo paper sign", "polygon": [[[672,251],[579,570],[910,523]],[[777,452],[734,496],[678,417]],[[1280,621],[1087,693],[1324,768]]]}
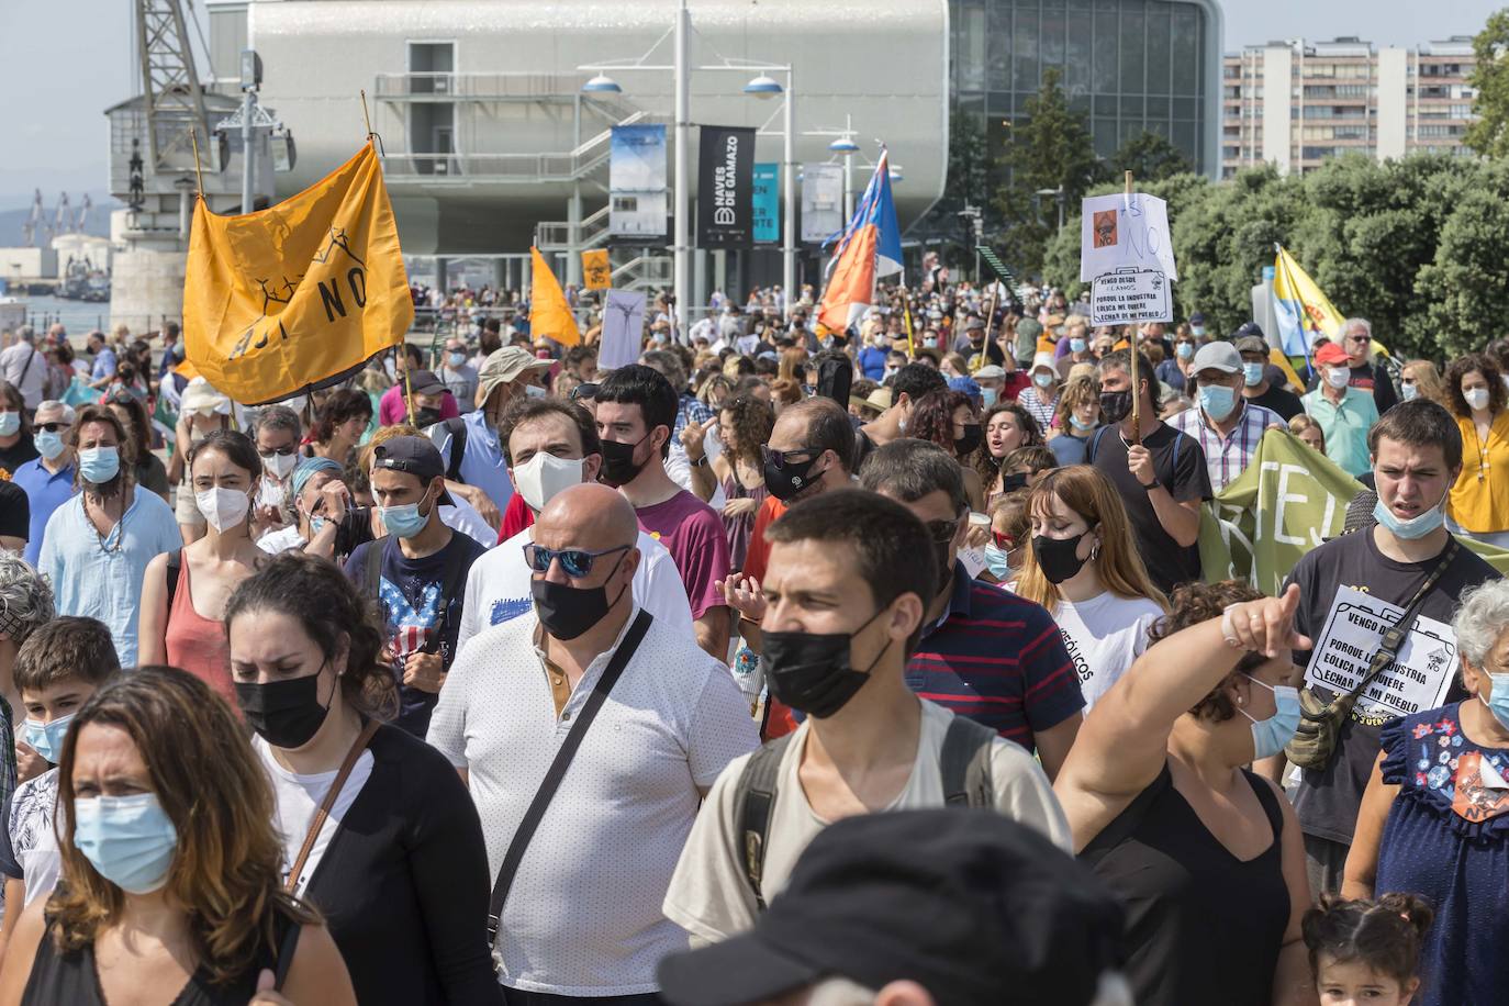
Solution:
{"label": "black t-shirt of young man wearing the Vengo paper sign", "polygon": [[[1364,590],[1378,600],[1403,608],[1420,590],[1420,584],[1435,570],[1440,555],[1424,563],[1396,563],[1378,549],[1373,540],[1375,528],[1354,531],[1326,541],[1305,554],[1289,575],[1289,584],[1299,584],[1299,611],[1295,612],[1295,629],[1311,639],[1325,627],[1326,615],[1342,587]],[[1420,614],[1437,621],[1452,623],[1456,602],[1471,587],[1498,579],[1498,572],[1465,547],[1456,551],[1452,566],[1441,573],[1435,588],[1426,596]],[[1286,584],[1287,587],[1287,584]],[[1369,655],[1372,656],[1372,655]],[[1295,652],[1295,664],[1307,667],[1308,652]],[[1322,698],[1332,692],[1317,688]],[[1446,701],[1456,701],[1464,692],[1453,679]],[[1352,828],[1357,810],[1363,802],[1363,790],[1378,759],[1378,733],[1382,724],[1366,724],[1349,718],[1337,736],[1337,753],[1325,769],[1305,769],[1299,789],[1295,792],[1295,811],[1305,834],[1329,839],[1343,845],[1352,843]]]}

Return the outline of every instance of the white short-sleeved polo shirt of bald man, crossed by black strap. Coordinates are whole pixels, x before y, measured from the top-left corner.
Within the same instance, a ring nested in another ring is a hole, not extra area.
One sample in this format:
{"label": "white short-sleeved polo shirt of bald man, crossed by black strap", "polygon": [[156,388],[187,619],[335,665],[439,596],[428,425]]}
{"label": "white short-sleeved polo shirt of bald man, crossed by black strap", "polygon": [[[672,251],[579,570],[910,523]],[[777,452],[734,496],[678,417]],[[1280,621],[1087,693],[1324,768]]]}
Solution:
{"label": "white short-sleeved polo shirt of bald man, crossed by black strap", "polygon": [[[530,611],[474,636],[430,718],[430,745],[468,772],[489,876],[623,639],[587,665],[557,716],[537,627]],[[554,995],[656,991],[656,964],[687,947],[661,902],[699,787],[758,744],[727,668],[653,621],[519,863],[498,932],[499,980]]]}

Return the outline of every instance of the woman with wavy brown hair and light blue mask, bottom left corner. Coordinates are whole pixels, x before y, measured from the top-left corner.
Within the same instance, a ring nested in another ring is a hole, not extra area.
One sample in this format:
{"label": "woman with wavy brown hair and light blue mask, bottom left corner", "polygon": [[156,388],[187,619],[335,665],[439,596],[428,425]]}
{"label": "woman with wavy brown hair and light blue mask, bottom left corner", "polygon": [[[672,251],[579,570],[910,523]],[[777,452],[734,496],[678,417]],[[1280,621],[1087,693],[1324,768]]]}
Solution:
{"label": "woman with wavy brown hair and light blue mask, bottom left corner", "polygon": [[85,703],[59,763],[62,876],[21,916],[0,1004],[180,989],[183,1006],[355,1006],[330,934],[284,887],[273,792],[244,736],[208,685],[171,667]]}

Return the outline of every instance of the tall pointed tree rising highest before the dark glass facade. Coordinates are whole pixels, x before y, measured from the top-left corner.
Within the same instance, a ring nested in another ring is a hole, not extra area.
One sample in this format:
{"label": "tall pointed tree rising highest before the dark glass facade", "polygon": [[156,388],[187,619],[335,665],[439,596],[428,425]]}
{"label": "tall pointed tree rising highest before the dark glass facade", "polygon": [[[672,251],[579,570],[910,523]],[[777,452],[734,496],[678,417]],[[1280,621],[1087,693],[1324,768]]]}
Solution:
{"label": "tall pointed tree rising highest before the dark glass facade", "polygon": [[1103,176],[1085,116],[1070,110],[1061,78],[1056,66],[1043,71],[1043,86],[1028,98],[1026,116],[1007,137],[1000,160],[1007,182],[996,190],[994,207],[1002,217],[1002,240],[1011,250],[1010,264],[1025,273],[1041,271],[1058,226],[1056,196],[1038,193],[1062,187],[1064,205],[1073,210]]}

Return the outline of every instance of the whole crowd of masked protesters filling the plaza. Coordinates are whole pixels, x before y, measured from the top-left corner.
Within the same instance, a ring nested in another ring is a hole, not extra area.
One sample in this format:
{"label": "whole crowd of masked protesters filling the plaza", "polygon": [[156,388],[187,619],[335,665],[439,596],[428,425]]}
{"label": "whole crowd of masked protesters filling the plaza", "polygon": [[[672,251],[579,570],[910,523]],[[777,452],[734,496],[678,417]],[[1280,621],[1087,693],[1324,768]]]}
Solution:
{"label": "whole crowd of masked protesters filling the plaza", "polygon": [[[5,336],[0,1006],[1497,1001],[1509,341],[569,297],[261,407]],[[1265,437],[1358,480],[1274,597]]]}

